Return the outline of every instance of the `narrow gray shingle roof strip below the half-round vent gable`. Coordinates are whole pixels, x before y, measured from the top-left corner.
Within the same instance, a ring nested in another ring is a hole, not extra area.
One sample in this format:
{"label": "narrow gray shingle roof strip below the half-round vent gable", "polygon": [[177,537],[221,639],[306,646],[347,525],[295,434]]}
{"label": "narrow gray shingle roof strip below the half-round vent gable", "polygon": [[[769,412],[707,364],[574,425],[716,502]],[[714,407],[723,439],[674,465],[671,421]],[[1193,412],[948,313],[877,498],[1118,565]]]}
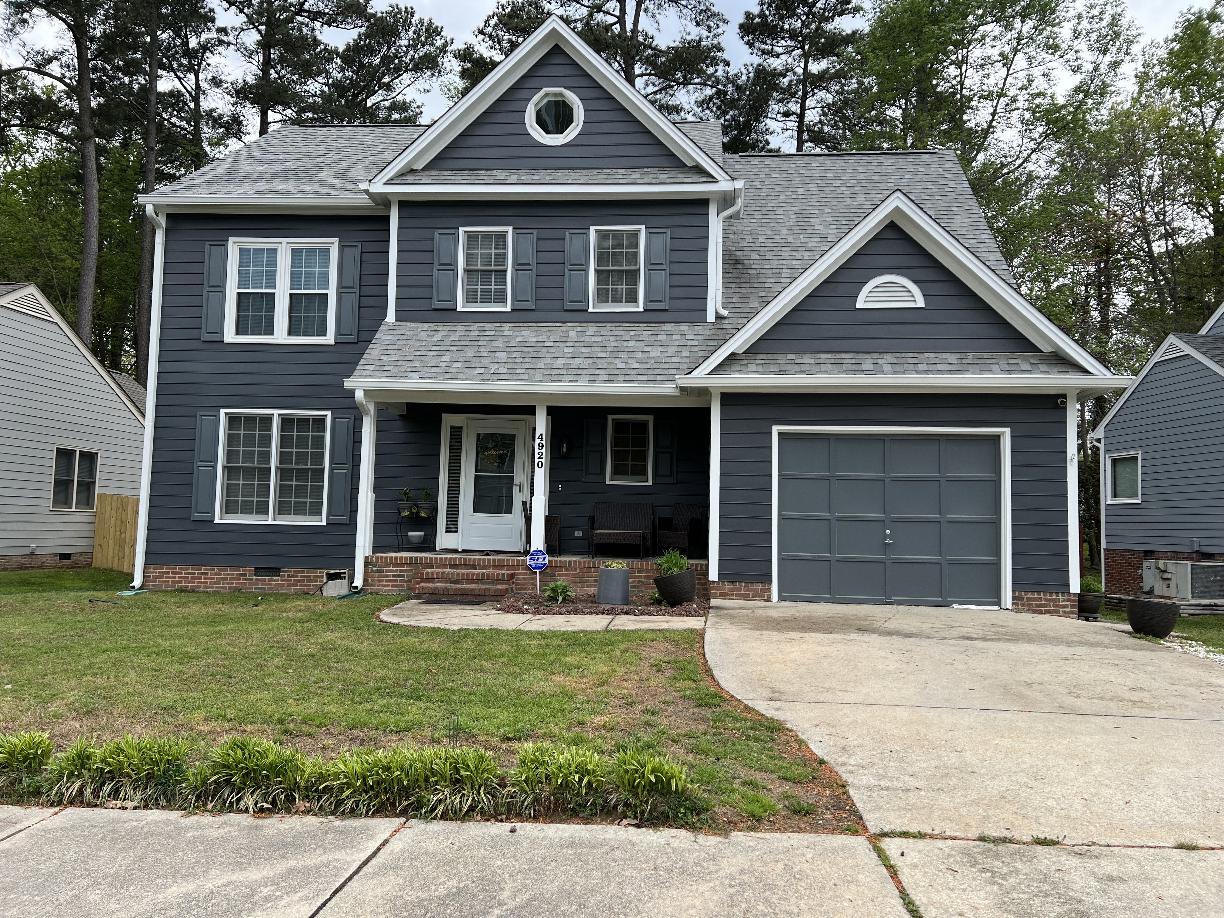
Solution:
{"label": "narrow gray shingle roof strip below the half-round vent gable", "polygon": [[1040,376],[1087,371],[1056,354],[732,354],[715,372]]}

